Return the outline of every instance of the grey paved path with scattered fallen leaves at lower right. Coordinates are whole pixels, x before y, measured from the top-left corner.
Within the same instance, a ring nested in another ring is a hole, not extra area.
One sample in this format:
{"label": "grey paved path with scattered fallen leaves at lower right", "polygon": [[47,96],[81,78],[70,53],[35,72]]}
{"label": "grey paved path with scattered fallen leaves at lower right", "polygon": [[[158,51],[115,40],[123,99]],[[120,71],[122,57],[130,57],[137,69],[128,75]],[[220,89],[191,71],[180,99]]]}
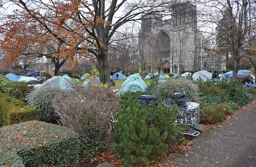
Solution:
{"label": "grey paved path with scattered fallen leaves at lower right", "polygon": [[248,106],[201,133],[189,151],[163,166],[256,167],[256,100]]}

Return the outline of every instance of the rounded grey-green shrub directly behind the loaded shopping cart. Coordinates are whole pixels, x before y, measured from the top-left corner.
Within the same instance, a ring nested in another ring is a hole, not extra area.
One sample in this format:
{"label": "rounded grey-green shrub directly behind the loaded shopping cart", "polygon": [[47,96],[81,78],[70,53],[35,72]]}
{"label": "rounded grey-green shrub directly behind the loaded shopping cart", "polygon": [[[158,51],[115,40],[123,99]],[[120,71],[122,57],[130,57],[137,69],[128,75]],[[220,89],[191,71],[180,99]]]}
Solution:
{"label": "rounded grey-green shrub directly behind the loaded shopping cart", "polygon": [[185,93],[188,101],[197,102],[201,94],[199,87],[186,78],[167,79],[166,82],[159,84],[155,89],[155,95],[158,101],[169,98],[170,95],[180,92]]}

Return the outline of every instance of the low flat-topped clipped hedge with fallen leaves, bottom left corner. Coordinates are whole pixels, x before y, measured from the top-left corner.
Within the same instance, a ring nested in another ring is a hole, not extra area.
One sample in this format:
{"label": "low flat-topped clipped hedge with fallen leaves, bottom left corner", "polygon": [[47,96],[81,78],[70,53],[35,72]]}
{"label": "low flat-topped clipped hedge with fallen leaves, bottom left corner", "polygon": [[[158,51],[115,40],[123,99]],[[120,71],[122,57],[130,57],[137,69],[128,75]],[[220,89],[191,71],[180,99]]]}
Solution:
{"label": "low flat-topped clipped hedge with fallen leaves, bottom left corner", "polygon": [[[0,129],[1,164],[16,166],[78,166],[78,134],[65,127],[27,121]],[[13,156],[14,155],[14,156]]]}

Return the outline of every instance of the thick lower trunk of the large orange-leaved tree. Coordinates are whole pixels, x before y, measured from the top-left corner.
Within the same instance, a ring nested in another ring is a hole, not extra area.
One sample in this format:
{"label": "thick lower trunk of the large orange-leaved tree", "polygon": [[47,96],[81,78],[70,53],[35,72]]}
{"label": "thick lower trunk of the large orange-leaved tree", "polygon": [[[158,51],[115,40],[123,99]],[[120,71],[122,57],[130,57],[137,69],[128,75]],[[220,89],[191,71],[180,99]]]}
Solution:
{"label": "thick lower trunk of the large orange-leaved tree", "polygon": [[102,83],[109,83],[109,62],[108,50],[105,49],[100,55],[97,56],[99,78]]}

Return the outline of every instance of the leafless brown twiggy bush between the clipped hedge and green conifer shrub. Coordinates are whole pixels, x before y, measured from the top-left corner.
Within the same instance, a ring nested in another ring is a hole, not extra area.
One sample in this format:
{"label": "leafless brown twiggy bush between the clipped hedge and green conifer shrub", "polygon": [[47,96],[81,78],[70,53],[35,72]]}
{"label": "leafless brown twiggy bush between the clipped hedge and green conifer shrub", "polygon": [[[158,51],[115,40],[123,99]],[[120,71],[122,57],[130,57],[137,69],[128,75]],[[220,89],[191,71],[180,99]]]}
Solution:
{"label": "leafless brown twiggy bush between the clipped hedge and green conifer shrub", "polygon": [[109,88],[90,86],[62,91],[53,100],[59,123],[82,140],[101,138],[109,129],[108,116],[118,109],[119,98]]}

